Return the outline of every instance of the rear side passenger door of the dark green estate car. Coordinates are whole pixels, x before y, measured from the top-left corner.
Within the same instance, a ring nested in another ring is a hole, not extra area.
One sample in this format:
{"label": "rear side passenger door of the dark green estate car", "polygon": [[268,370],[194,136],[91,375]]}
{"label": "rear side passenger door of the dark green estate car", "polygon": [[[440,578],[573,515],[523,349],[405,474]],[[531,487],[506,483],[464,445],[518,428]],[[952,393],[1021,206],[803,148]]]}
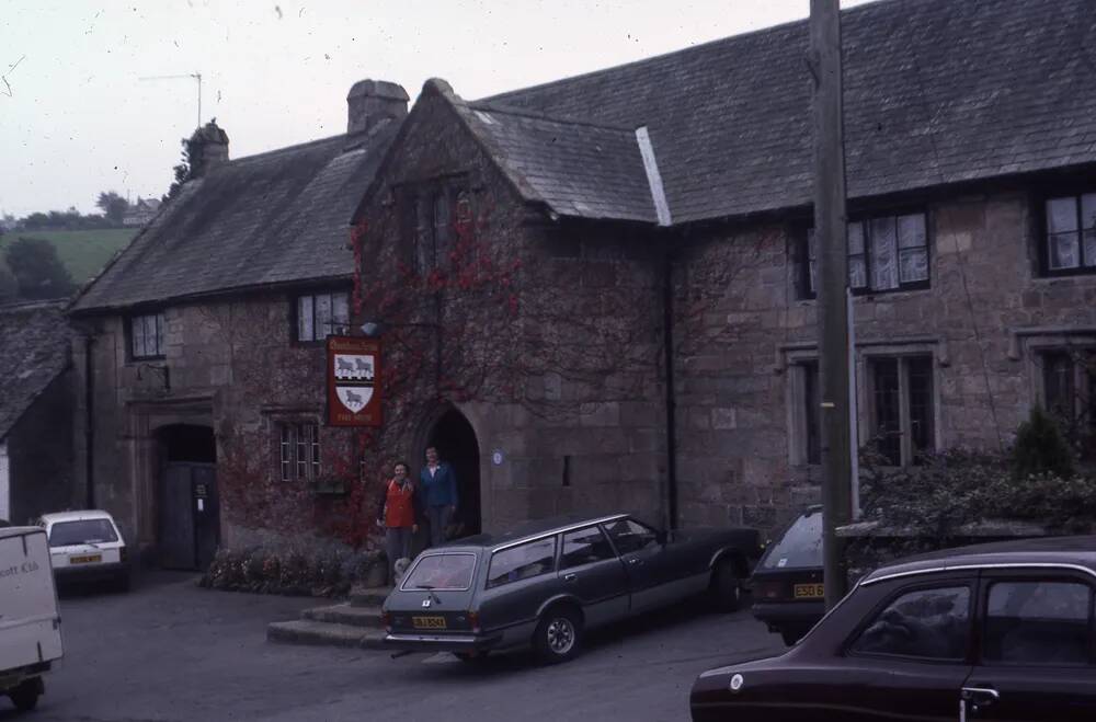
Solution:
{"label": "rear side passenger door of the dark green estate car", "polygon": [[559,576],[563,589],[582,601],[587,626],[628,614],[628,574],[598,527],[563,535]]}

